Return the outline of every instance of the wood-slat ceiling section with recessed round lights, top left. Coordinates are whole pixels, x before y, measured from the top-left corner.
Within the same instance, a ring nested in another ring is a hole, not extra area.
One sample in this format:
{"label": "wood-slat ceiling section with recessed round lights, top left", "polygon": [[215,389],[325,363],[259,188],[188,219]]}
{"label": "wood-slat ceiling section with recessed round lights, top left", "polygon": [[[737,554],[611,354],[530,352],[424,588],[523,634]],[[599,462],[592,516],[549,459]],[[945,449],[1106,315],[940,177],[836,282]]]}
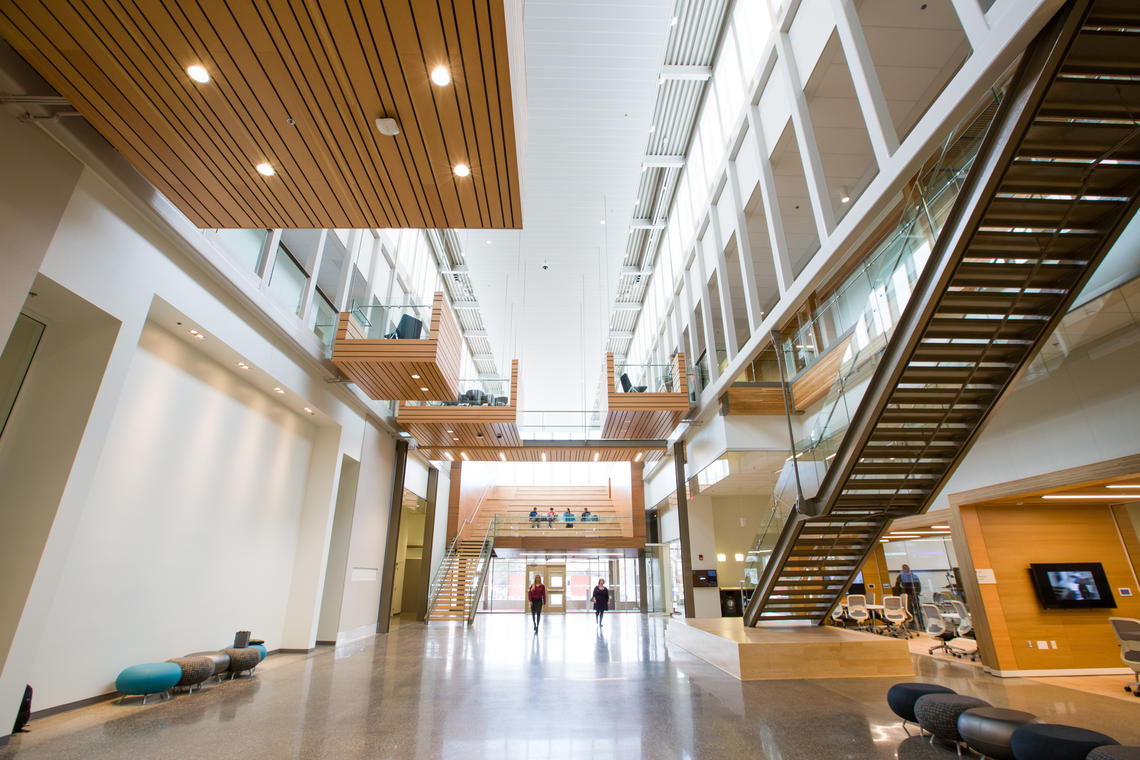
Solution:
{"label": "wood-slat ceiling section with recessed round lights, top left", "polygon": [[522,227],[500,0],[0,0],[0,34],[198,227]]}

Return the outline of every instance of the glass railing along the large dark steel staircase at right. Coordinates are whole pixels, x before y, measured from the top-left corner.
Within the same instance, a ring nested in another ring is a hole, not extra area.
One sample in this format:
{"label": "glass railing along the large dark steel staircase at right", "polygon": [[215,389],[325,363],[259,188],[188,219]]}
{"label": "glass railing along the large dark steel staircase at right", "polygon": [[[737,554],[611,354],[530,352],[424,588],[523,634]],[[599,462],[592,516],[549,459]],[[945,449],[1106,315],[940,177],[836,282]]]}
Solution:
{"label": "glass railing along the large dark steel staircase at right", "polygon": [[844,287],[779,346],[783,361],[777,366],[788,382],[830,348],[847,341],[809,434],[792,442],[791,456],[781,468],[764,528],[746,559],[749,579],[758,581],[763,575],[792,507],[817,493],[977,155],[996,103],[994,93],[994,101],[979,116],[946,140],[936,160],[912,183],[898,223]]}

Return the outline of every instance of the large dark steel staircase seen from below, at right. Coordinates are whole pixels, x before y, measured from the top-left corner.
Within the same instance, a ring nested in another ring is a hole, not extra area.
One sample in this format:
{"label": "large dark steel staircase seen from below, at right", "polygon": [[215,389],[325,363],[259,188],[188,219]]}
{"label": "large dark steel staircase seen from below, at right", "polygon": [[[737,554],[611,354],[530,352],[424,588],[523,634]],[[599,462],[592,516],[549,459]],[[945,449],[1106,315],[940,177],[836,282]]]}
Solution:
{"label": "large dark steel staircase seen from below, at right", "polygon": [[1070,0],[1024,54],[849,419],[793,452],[820,476],[797,471],[774,508],[746,624],[822,623],[890,522],[930,506],[1138,198],[1140,3]]}

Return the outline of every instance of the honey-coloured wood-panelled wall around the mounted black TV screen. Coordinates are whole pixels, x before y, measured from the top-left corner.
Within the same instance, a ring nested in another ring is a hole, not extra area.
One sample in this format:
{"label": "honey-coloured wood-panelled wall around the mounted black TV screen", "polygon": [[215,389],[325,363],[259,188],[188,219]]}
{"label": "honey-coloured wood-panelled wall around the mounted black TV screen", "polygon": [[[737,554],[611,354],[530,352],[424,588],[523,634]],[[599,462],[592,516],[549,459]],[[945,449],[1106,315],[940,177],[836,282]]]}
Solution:
{"label": "honey-coloured wood-panelled wall around the mounted black TV screen", "polygon": [[[962,506],[960,513],[975,567],[992,569],[996,579],[977,587],[996,657],[987,665],[1003,671],[1123,667],[1108,619],[1140,618],[1140,596],[1110,506],[980,505]],[[1117,607],[1044,610],[1029,579],[1034,562],[1100,562]],[[968,570],[972,577],[974,567]],[[1132,589],[1132,596],[1121,596],[1118,588]],[[1039,648],[1037,641],[1057,641],[1057,648]]]}

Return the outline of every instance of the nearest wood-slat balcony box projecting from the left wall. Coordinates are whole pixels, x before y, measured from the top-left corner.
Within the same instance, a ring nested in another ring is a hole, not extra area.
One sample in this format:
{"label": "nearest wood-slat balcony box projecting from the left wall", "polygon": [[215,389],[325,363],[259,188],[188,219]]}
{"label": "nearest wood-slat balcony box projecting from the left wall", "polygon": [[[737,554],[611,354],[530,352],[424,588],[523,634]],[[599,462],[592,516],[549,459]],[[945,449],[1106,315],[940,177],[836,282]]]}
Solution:
{"label": "nearest wood-slat balcony box projecting from the left wall", "polygon": [[458,394],[463,338],[442,293],[437,293],[432,301],[426,340],[360,340],[360,334],[351,314],[341,313],[333,342],[333,363],[368,398],[450,401]]}

